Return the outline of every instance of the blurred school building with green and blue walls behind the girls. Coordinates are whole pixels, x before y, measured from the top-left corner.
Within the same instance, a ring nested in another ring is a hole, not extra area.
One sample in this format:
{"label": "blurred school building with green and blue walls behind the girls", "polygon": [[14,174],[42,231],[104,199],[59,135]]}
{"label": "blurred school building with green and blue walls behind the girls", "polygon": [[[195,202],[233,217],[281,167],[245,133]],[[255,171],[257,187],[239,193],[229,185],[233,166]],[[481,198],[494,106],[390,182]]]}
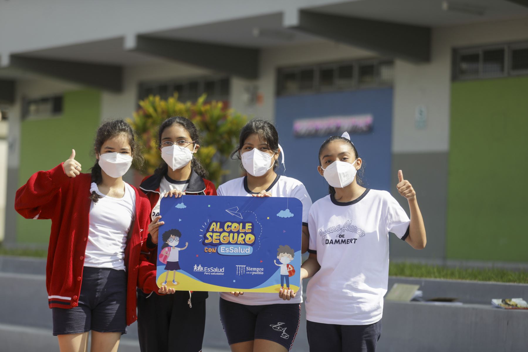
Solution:
{"label": "blurred school building with green and blue walls behind the girls", "polygon": [[13,209],[33,172],[72,148],[88,170],[100,122],[148,94],[206,92],[275,122],[313,201],[319,146],[343,126],[366,186],[408,210],[402,169],[428,243],[392,236],[392,259],[528,263],[526,0],[7,1],[0,63],[5,244],[48,241],[49,221]]}

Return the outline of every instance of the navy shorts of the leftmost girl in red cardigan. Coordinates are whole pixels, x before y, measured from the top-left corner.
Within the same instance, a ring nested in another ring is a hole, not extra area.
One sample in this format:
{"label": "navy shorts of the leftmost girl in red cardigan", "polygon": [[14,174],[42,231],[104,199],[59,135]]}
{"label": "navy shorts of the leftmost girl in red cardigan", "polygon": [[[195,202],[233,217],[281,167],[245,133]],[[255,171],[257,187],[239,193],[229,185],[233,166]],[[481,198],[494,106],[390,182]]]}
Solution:
{"label": "navy shorts of the leftmost girl in red cardigan", "polygon": [[52,308],[53,335],[86,331],[127,332],[127,273],[110,268],[84,267],[79,305]]}

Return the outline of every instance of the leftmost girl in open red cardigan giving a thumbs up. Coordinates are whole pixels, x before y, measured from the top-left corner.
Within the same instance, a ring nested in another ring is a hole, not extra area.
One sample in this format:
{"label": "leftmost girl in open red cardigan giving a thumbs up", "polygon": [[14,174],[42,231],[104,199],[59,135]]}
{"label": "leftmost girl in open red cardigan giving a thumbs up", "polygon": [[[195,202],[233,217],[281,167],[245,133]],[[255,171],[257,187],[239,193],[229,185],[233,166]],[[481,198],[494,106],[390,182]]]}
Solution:
{"label": "leftmost girl in open red cardigan giving a thumbs up", "polygon": [[81,173],[75,150],[64,163],[39,171],[16,192],[25,218],[51,219],[46,288],[53,335],[61,351],[117,351],[121,334],[136,320],[136,287],[174,293],[156,285],[146,250],[150,203],[122,180],[133,156],[141,160],[134,132],[123,120],[104,123],[95,140],[97,162]]}

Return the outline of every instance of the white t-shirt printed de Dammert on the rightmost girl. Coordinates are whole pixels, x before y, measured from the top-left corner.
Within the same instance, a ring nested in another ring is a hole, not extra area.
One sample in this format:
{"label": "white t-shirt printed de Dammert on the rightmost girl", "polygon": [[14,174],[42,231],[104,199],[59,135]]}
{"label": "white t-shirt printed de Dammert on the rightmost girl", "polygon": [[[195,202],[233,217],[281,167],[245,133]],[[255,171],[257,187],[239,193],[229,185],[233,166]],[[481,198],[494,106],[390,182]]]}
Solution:
{"label": "white t-shirt printed de Dammert on the rightmost girl", "polygon": [[308,282],[306,319],[367,325],[381,319],[389,280],[389,232],[408,235],[410,220],[389,192],[367,189],[352,202],[328,195],[308,215],[308,250],[321,268]]}

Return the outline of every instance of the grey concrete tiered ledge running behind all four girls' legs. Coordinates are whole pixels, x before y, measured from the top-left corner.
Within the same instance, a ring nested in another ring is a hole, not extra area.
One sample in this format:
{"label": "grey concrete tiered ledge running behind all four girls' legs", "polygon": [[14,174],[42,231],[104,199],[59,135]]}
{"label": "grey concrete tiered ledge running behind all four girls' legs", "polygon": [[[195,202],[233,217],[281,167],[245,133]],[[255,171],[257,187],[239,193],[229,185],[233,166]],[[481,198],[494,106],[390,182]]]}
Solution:
{"label": "grey concrete tiered ledge running behind all four girls' legs", "polygon": [[[0,352],[57,351],[52,336],[51,309],[45,289],[45,261],[0,256]],[[419,284],[424,297],[456,297],[463,305],[427,302],[390,302],[383,309],[380,352],[518,352],[528,346],[528,311],[493,308],[491,298],[528,298],[528,284],[390,278]],[[306,284],[306,282],[305,282]],[[138,352],[137,327],[128,328],[119,351]],[[307,351],[306,320],[293,352]],[[218,294],[207,300],[204,352],[228,352],[220,324]]]}

